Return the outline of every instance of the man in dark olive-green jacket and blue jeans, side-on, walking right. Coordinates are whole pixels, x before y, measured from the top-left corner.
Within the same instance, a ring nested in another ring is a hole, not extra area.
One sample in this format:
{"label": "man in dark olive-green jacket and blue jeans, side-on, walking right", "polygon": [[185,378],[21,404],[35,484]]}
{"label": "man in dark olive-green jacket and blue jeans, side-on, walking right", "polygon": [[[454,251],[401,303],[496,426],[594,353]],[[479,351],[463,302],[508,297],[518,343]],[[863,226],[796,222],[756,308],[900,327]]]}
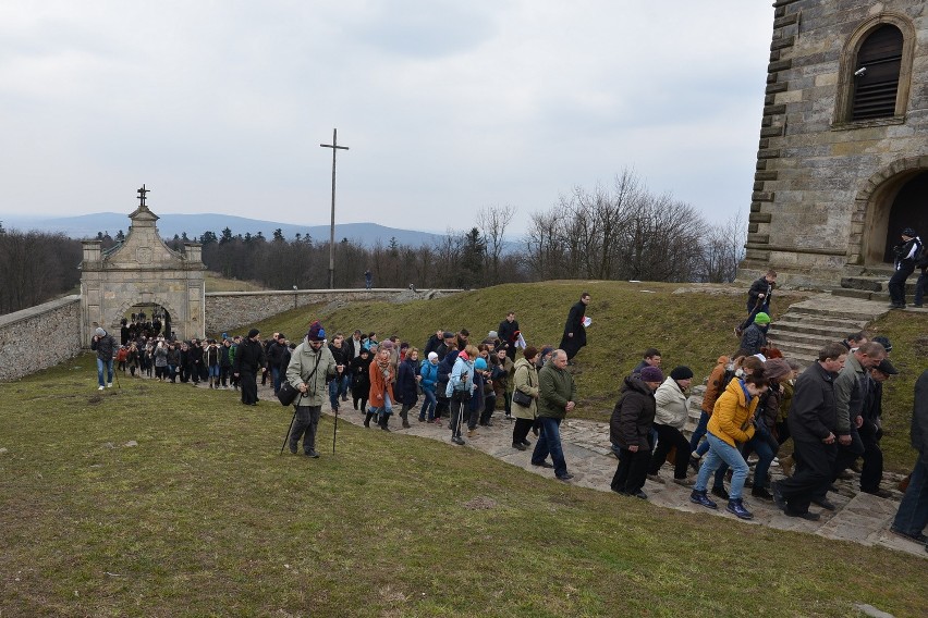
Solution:
{"label": "man in dark olive-green jacket and blue jeans, side-on, walking right", "polygon": [[[574,376],[566,367],[567,355],[562,349],[555,349],[548,363],[538,372],[538,422],[541,424],[541,435],[532,453],[532,465],[553,468],[560,481],[574,478],[567,472],[567,462],[561,448],[561,421],[574,409],[577,393]],[[549,453],[553,466],[546,460]]]}

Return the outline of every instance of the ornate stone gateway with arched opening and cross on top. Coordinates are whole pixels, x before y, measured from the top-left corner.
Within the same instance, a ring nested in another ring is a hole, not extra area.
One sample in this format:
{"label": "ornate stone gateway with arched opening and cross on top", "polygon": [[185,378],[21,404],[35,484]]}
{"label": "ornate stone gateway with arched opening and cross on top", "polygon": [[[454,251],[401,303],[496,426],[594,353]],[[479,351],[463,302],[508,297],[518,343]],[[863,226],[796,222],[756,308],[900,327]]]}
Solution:
{"label": "ornate stone gateway with arched opening and cross on top", "polygon": [[134,307],[163,312],[178,338],[206,334],[202,247],[184,243],[183,252],[168,247],[155,224],[158,215],[145,206],[146,193],[143,186],[141,205],[129,215],[132,225],[125,240],[106,251],[99,240],[83,243],[81,334],[85,345],[97,326],[118,335],[120,321]]}

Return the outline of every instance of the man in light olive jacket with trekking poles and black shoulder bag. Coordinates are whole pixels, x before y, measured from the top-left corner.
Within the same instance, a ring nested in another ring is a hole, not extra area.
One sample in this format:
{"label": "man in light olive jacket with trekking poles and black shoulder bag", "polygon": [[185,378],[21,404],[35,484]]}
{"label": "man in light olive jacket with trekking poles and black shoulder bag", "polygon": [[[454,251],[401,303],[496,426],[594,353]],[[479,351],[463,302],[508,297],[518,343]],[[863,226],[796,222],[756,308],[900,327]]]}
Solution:
{"label": "man in light olive jacket with trekking poles and black shoulder bag", "polygon": [[309,326],[306,338],[296,346],[286,367],[286,381],[300,391],[296,398],[296,413],[293,431],[290,432],[290,452],[296,455],[296,446],[303,438],[303,453],[316,459],[316,430],[322,413],[322,403],[328,396],[328,379],[344,371],[337,364],[326,344],[326,331],[316,321]]}

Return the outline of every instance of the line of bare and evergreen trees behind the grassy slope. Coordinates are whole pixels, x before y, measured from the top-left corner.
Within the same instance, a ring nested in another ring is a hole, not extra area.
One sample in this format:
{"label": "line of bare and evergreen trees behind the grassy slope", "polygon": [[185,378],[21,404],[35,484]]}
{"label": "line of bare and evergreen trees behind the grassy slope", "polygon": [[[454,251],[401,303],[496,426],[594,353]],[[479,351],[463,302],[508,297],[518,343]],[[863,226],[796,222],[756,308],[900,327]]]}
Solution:
{"label": "line of bare and evergreen trees behind the grassy slope", "polygon": [[[366,247],[342,238],[334,248],[334,285],[359,287],[367,270],[377,287],[473,288],[550,279],[731,282],[743,258],[747,227],[741,217],[710,223],[692,206],[655,195],[631,171],[619,174],[611,186],[575,187],[560,196],[549,210],[534,212],[523,236],[511,240],[514,214],[511,206],[486,207],[471,228],[448,230],[430,245],[390,238]],[[107,248],[124,235],[101,232],[97,238]],[[193,238],[175,235],[167,243],[182,250],[191,240],[203,245],[206,267],[225,277],[272,289],[323,288],[329,283],[328,238],[296,234],[286,239],[281,230],[266,238],[260,232],[234,234],[225,227]],[[29,255],[33,259],[22,259]],[[41,302],[80,281],[78,240],[61,234],[0,232],[0,268],[15,264],[15,256],[34,265],[21,269],[15,284],[20,292],[0,297],[0,312]],[[37,286],[36,279],[47,283]]]}

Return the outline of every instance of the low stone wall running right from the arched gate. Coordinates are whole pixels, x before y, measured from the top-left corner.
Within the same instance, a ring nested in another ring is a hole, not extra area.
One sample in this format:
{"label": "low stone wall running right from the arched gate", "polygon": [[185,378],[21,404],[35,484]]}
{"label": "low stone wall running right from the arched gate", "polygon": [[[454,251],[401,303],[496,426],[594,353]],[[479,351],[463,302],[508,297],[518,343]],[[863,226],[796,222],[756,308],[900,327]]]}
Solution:
{"label": "low stone wall running right from the arched gate", "polygon": [[221,333],[317,302],[429,299],[457,289],[279,289],[206,294],[206,332]]}

